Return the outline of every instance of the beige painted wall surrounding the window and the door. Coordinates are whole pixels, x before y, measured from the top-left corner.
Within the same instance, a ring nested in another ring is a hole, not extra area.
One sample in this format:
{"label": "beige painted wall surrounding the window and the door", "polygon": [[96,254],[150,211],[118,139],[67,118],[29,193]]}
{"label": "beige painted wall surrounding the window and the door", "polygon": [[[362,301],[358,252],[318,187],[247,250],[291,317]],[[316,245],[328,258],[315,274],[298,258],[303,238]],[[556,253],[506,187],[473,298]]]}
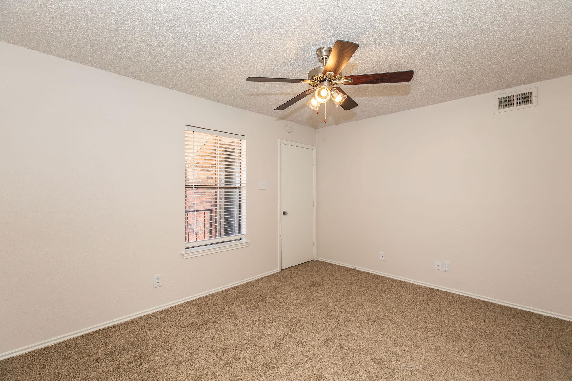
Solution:
{"label": "beige painted wall surrounding the window and the door", "polygon": [[[278,140],[314,129],[2,42],[0,89],[0,354],[278,268]],[[249,247],[182,258],[185,124],[247,135]]]}

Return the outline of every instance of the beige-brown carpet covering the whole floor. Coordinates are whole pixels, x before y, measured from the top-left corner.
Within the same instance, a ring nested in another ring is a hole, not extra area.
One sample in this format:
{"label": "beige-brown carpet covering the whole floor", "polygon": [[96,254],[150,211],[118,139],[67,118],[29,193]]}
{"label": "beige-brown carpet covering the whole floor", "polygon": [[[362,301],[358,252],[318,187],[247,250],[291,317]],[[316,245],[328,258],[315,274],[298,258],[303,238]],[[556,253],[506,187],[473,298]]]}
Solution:
{"label": "beige-brown carpet covering the whole floor", "polygon": [[572,380],[572,322],[324,262],[0,362],[2,380]]}

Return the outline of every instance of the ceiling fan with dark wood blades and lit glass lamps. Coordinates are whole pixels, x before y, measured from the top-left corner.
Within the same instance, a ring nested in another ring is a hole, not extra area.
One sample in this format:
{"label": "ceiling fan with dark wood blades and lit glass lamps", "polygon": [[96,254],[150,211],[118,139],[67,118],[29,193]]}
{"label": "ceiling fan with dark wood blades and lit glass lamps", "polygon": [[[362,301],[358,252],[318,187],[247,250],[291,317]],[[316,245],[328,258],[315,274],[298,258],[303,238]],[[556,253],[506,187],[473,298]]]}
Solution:
{"label": "ceiling fan with dark wood blades and lit glass lamps", "polygon": [[[335,103],[336,107],[341,106],[344,110],[351,110],[358,106],[344,90],[336,85],[370,85],[373,83],[396,83],[409,82],[413,78],[413,70],[394,71],[391,73],[376,74],[360,74],[343,76],[341,70],[344,69],[346,63],[352,57],[353,53],[358,50],[359,45],[349,41],[338,40],[333,45],[333,49],[328,46],[320,47],[316,50],[316,55],[321,66],[315,67],[308,73],[308,79],[292,79],[292,78],[266,78],[266,77],[248,77],[247,82],[290,82],[290,83],[308,83],[312,89],[303,91],[290,99],[288,102],[276,107],[274,110],[284,110],[292,106],[294,103],[304,99],[310,94],[313,97],[307,102],[312,109],[320,112],[320,105],[328,102],[330,99]],[[324,106],[325,107],[325,106]],[[325,122],[324,118],[324,122]]]}

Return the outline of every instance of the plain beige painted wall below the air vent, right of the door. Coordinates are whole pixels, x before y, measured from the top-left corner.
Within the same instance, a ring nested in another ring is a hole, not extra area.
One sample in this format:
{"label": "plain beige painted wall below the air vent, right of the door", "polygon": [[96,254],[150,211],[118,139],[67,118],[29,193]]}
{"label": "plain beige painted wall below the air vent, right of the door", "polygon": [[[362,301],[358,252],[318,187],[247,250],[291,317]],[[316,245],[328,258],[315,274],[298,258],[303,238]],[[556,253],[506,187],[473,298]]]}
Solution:
{"label": "plain beige painted wall below the air vent, right of the door", "polygon": [[318,130],[317,255],[572,316],[572,76],[529,87]]}

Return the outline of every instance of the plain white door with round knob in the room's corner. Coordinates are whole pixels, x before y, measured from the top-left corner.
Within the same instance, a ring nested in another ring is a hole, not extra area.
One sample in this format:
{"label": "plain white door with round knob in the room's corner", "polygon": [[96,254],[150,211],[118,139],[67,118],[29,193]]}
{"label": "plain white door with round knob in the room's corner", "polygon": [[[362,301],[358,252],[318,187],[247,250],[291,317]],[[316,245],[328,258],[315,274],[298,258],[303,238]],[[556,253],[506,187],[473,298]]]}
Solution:
{"label": "plain white door with round knob in the room's corner", "polygon": [[281,268],[314,259],[314,150],[280,144]]}

